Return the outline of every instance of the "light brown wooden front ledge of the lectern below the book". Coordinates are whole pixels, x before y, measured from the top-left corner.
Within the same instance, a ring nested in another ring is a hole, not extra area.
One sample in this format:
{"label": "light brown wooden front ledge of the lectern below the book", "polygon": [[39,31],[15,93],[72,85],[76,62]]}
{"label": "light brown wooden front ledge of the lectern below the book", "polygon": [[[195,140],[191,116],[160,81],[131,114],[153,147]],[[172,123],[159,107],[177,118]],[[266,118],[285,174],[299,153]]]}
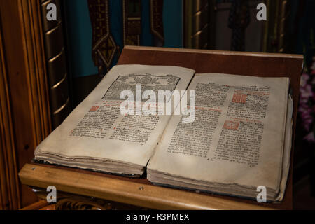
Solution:
{"label": "light brown wooden front ledge of the lectern below the book", "polygon": [[150,209],[274,209],[211,195],[42,165],[26,164],[20,170],[19,176],[20,181],[27,186],[37,188],[55,186],[57,192],[59,190]]}

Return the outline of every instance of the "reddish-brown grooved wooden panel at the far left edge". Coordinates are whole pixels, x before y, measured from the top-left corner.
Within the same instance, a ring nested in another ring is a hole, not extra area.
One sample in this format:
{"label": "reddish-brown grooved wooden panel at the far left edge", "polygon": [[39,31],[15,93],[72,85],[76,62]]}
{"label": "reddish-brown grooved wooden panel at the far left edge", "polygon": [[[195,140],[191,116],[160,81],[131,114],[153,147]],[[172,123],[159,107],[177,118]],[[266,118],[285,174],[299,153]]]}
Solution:
{"label": "reddish-brown grooved wooden panel at the far left edge", "polygon": [[0,20],[0,204],[17,209],[37,200],[17,174],[51,130],[40,2],[0,1]]}

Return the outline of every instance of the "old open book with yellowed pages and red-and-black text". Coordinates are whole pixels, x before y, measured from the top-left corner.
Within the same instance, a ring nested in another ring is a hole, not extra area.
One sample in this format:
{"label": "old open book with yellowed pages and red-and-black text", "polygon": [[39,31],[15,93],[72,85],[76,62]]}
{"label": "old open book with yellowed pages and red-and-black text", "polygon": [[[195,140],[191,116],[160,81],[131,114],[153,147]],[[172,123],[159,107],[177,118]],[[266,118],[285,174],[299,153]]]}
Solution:
{"label": "old open book with yellowed pages and red-and-black text", "polygon": [[282,200],[288,89],[288,78],[114,66],[37,146],[35,160],[130,176],[147,171],[155,184],[242,197],[255,198],[264,186],[267,200]]}

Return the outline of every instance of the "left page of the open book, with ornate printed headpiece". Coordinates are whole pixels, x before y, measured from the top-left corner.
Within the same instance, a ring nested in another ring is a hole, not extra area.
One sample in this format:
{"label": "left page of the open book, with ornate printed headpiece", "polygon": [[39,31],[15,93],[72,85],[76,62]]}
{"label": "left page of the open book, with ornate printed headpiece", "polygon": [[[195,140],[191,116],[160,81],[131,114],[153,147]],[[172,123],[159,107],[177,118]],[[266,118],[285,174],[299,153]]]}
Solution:
{"label": "left page of the open book, with ornate printed headpiece", "polygon": [[120,91],[137,82],[148,89],[169,82],[174,90],[186,90],[194,73],[176,66],[114,66],[68,118],[38,145],[35,158],[51,153],[72,160],[102,158],[146,166],[170,116],[124,116],[119,107],[124,100],[118,99]]}

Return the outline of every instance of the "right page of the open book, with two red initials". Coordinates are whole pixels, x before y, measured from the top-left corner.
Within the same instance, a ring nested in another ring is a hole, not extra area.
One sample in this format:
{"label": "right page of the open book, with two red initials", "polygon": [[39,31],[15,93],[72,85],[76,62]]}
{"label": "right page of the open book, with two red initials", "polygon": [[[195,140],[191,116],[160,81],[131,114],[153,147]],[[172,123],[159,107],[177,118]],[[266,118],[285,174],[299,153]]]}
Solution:
{"label": "right page of the open book, with two red initials", "polygon": [[172,117],[148,169],[279,189],[288,78],[202,73],[188,90],[196,90],[195,121]]}

